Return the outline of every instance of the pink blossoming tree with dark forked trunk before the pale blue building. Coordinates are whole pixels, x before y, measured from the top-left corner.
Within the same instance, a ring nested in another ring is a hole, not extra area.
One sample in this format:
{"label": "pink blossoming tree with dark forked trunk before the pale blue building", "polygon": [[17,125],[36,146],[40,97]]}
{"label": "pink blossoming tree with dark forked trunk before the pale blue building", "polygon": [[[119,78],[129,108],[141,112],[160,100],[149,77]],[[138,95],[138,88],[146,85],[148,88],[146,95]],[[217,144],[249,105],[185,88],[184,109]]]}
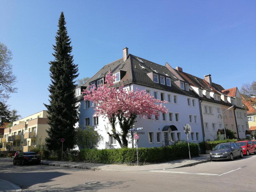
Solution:
{"label": "pink blossoming tree with dark forked trunk before the pale blue building", "polygon": [[[168,109],[163,106],[167,101],[160,101],[152,97],[145,90],[127,90],[124,85],[118,89],[114,87],[116,76],[112,76],[109,71],[105,78],[104,85],[89,86],[90,90],[84,90],[84,100],[90,100],[98,105],[94,108],[94,116],[104,116],[111,124],[113,136],[121,147],[127,147],[127,137],[129,129],[135,123],[137,116],[147,118],[147,116],[159,116],[160,113],[167,113]],[[117,120],[121,131],[116,130]]]}

